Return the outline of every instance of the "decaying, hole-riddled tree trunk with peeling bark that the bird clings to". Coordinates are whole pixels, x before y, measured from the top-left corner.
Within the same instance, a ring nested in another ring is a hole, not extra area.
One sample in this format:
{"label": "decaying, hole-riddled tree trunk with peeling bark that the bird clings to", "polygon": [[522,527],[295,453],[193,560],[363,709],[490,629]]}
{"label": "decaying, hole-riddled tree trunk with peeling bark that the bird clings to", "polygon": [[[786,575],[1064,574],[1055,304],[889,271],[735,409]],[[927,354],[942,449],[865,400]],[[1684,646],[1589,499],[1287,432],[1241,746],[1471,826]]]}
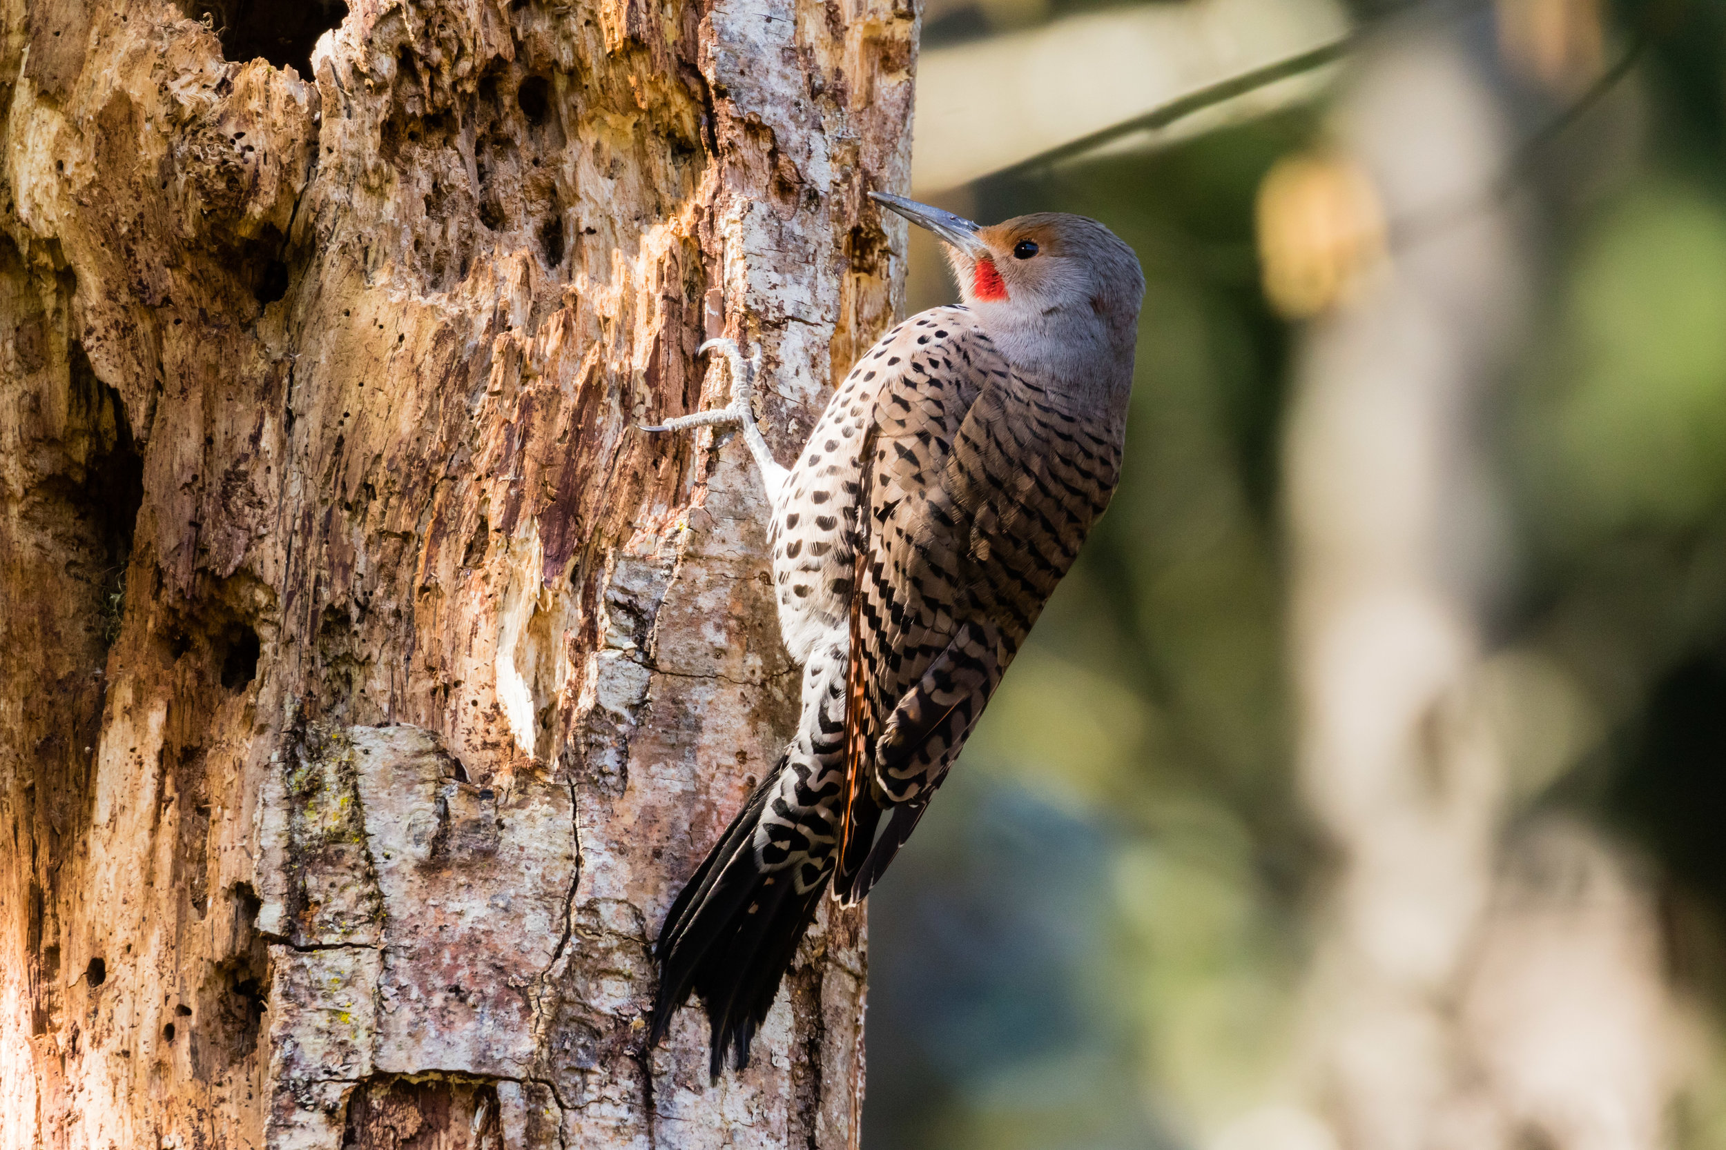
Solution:
{"label": "decaying, hole-riddled tree trunk with peeling bark that the bird clings to", "polygon": [[0,1147],[854,1145],[860,917],[644,1048],[797,676],[740,445],[630,424],[723,333],[789,457],[889,322],[915,17],[342,17],[5,7]]}

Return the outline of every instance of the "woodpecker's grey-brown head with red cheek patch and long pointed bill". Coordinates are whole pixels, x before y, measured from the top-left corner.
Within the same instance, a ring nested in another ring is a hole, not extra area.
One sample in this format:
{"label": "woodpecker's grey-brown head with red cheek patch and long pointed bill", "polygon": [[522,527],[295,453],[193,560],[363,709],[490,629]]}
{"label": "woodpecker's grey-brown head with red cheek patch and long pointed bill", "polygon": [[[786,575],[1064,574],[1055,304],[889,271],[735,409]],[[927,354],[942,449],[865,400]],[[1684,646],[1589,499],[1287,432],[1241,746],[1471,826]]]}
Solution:
{"label": "woodpecker's grey-brown head with red cheek patch and long pointed bill", "polygon": [[1072,374],[1103,355],[1131,374],[1144,272],[1108,228],[1063,212],[986,228],[903,197],[870,198],[935,233],[965,305],[1010,359]]}

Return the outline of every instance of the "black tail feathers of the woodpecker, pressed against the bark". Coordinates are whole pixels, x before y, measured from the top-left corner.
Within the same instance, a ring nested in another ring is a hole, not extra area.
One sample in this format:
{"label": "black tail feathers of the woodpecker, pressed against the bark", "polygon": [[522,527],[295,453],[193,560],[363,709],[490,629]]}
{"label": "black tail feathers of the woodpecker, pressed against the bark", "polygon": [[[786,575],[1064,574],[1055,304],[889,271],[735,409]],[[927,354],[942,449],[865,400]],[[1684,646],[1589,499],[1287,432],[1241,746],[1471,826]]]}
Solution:
{"label": "black tail feathers of the woodpecker, pressed against the bark", "polygon": [[735,1069],[749,1064],[749,1043],[773,1007],[778,983],[827,888],[822,883],[799,895],[794,867],[772,874],[756,867],[754,829],[777,781],[777,771],[768,774],[732,819],[671,903],[654,945],[659,993],[647,1045],[665,1038],[671,1016],[696,991],[713,1029],[715,1081],[725,1069],[727,1050]]}

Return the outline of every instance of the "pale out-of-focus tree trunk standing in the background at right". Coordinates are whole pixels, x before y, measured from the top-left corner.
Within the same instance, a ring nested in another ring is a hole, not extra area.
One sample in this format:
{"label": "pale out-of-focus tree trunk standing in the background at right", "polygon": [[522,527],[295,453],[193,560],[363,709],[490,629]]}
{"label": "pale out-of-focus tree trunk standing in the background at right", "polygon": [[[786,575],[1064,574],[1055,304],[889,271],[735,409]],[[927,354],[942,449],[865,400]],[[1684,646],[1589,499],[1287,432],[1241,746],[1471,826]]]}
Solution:
{"label": "pale out-of-focus tree trunk standing in the background at right", "polygon": [[1484,67],[1415,22],[1338,114],[1405,243],[1308,329],[1289,424],[1301,783],[1338,848],[1301,1059],[1327,1129],[1298,1145],[1652,1150],[1652,895],[1598,833],[1512,824],[1543,672],[1488,648],[1491,393],[1534,252],[1486,195],[1510,133]]}

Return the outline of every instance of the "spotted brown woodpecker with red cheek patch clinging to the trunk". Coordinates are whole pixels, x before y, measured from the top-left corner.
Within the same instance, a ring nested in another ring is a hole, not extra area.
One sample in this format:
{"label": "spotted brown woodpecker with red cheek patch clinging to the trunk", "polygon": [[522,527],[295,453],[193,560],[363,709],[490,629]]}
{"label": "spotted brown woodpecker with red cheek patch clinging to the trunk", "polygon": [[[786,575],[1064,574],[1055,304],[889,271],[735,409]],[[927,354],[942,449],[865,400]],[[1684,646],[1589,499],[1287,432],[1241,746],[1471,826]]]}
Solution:
{"label": "spotted brown woodpecker with red cheek patch clinging to the trunk", "polygon": [[889,331],[789,471],[751,409],[759,355],[715,340],[718,410],[646,431],[737,426],[773,505],[773,584],[803,714],[778,767],[659,931],[649,1045],[690,991],[715,1079],[742,1069],[822,893],[854,905],[929,807],[1120,476],[1144,276],[1082,216],[982,228],[873,200],[941,238],[963,305]]}

